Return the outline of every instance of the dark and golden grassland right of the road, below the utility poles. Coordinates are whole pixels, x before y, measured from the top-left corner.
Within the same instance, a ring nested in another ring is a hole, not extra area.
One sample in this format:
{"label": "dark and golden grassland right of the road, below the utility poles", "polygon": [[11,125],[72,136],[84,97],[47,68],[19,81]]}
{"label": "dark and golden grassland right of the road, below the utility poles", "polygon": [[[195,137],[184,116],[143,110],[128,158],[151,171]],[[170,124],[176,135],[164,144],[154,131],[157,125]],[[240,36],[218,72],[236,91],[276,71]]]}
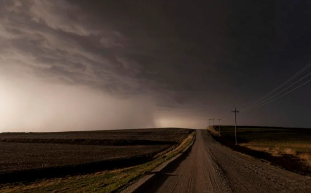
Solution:
{"label": "dark and golden grassland right of the road, below the utility poles", "polygon": [[271,164],[311,176],[311,129],[238,128],[235,145],[234,128],[209,127],[212,137],[229,148]]}

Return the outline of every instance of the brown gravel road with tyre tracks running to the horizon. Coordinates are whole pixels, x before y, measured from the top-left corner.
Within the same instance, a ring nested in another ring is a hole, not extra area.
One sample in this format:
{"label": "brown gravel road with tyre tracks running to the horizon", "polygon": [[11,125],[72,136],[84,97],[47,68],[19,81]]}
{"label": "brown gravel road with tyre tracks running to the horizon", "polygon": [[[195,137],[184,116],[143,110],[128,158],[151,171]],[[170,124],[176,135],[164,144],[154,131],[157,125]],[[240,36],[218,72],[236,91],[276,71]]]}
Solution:
{"label": "brown gravel road with tyre tracks running to the horizon", "polygon": [[311,178],[232,151],[197,130],[193,146],[135,193],[311,193]]}

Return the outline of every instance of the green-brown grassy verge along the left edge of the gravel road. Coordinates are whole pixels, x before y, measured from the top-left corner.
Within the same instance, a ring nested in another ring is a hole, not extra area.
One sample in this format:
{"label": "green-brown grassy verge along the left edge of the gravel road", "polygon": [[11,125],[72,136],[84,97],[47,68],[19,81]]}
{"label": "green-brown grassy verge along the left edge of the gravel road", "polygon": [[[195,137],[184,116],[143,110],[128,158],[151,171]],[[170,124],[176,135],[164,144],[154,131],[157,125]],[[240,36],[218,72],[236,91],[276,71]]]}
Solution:
{"label": "green-brown grassy verge along the left edge of the gravel road", "polygon": [[127,186],[135,183],[139,178],[153,171],[161,163],[170,160],[190,145],[194,132],[191,133],[179,146],[171,151],[162,152],[155,156],[154,161],[142,165],[113,171],[103,171],[95,174],[71,176],[64,178],[41,179],[35,182],[2,184],[1,193],[118,193]]}

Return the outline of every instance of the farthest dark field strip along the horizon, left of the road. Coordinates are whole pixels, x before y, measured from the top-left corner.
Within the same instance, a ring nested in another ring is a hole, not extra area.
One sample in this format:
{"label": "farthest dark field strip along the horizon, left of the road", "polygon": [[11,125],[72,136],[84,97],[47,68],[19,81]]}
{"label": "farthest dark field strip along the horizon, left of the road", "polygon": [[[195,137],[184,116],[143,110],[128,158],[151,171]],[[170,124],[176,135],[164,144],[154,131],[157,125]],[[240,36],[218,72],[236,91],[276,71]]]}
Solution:
{"label": "farthest dark field strip along the horizon, left of the road", "polygon": [[0,142],[71,145],[173,145],[188,129],[125,129],[102,131],[0,133]]}

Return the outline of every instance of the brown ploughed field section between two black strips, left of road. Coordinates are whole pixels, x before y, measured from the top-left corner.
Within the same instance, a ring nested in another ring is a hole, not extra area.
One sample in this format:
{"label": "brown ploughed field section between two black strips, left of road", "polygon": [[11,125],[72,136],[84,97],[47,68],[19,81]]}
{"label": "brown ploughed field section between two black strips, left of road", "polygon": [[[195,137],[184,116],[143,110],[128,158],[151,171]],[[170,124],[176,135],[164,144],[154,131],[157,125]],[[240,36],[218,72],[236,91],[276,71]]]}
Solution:
{"label": "brown ploughed field section between two black strips, left of road", "polygon": [[[154,154],[170,145],[64,145],[0,143],[0,174]],[[16,153],[13,153],[16,152]]]}

